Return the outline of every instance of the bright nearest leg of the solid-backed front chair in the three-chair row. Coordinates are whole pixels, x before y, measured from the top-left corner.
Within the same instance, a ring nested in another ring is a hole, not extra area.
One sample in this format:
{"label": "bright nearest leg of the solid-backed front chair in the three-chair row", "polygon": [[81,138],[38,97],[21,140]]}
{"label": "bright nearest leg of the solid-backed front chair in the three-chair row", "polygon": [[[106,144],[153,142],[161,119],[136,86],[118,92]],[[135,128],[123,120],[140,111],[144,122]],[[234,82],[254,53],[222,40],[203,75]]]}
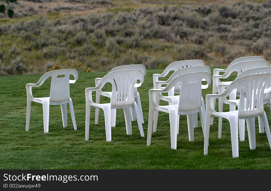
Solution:
{"label": "bright nearest leg of the solid-backed front chair in the three-chair row", "polygon": [[[170,118],[170,140],[171,140],[171,148],[177,149],[177,111],[170,111],[169,118]],[[193,123],[191,124],[192,129],[194,130]]]}

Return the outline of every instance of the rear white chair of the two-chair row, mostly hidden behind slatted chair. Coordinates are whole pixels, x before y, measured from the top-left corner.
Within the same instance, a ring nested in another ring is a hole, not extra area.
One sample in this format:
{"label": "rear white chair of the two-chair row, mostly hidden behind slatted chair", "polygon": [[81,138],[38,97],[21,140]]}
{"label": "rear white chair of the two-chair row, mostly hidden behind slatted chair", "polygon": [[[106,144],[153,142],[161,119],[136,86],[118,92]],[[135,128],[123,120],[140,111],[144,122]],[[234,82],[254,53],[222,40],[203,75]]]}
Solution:
{"label": "rear white chair of the two-chair row, mostly hidden behind slatted chair", "polygon": [[[142,64],[128,64],[128,65],[117,66],[117,67],[113,68],[112,70],[110,70],[109,73],[114,72],[114,71],[119,71],[119,70],[141,70],[143,75],[144,76],[146,75],[146,67]],[[95,85],[96,86],[99,84],[101,79],[102,78],[95,78]],[[135,84],[134,97],[135,97],[136,103],[138,105],[141,123],[144,123],[140,94],[137,91],[137,88],[140,87],[142,85],[142,83],[140,82],[138,84],[137,83]],[[103,92],[102,90],[97,90],[96,91],[96,103],[100,103],[101,95],[105,96],[105,97],[111,97],[112,92]],[[99,109],[100,108],[95,109],[95,124],[98,124],[98,121],[99,121]],[[112,125],[112,127],[116,126],[116,111],[117,111],[116,109],[111,110],[111,125]],[[134,110],[131,109],[131,117],[132,117],[132,121],[135,121],[136,117],[135,117],[135,113],[133,111]]]}

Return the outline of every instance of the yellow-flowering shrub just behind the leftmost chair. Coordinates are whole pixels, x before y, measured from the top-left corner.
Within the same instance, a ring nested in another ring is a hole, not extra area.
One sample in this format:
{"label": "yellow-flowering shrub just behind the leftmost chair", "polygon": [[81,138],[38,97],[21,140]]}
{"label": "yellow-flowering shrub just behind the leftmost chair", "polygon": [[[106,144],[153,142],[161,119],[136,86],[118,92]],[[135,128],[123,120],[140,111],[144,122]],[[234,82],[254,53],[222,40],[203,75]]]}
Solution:
{"label": "yellow-flowering shrub just behind the leftmost chair", "polygon": [[68,69],[68,68],[73,68],[78,70],[78,72],[91,72],[91,69],[85,65],[83,65],[82,62],[77,61],[74,62],[71,59],[66,60],[64,62],[57,62],[53,67],[50,67],[48,69],[48,72],[51,70],[60,70],[60,69]]}

